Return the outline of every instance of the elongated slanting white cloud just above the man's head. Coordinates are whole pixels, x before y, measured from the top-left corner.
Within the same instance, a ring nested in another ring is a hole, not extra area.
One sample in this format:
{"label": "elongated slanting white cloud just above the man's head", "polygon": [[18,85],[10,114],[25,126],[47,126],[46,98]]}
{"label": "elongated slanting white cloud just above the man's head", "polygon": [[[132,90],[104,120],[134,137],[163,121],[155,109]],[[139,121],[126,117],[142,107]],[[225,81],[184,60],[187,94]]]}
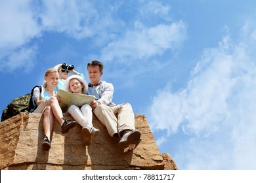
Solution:
{"label": "elongated slanting white cloud just above the man's head", "polygon": [[[138,22],[136,24],[139,24]],[[127,31],[123,37],[110,42],[102,50],[104,61],[118,60],[128,63],[138,59],[159,56],[166,50],[175,51],[186,39],[186,25],[181,22],[145,27],[140,24],[135,31]]]}

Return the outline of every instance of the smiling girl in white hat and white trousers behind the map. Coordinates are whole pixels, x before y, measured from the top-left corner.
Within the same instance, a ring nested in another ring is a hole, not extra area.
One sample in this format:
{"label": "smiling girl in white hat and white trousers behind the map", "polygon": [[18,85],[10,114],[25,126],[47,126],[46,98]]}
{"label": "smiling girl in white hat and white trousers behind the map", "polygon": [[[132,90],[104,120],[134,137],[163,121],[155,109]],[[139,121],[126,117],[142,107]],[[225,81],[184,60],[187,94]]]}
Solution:
{"label": "smiling girl in white hat and white trousers behind the map", "polygon": [[[66,79],[64,83],[64,90],[72,93],[86,94],[87,82],[79,75],[72,75]],[[68,108],[68,113],[75,119],[75,121],[81,125],[82,139],[86,146],[91,144],[91,136],[96,137],[99,130],[93,127],[93,112],[90,105],[83,105],[81,108],[71,105]]]}

